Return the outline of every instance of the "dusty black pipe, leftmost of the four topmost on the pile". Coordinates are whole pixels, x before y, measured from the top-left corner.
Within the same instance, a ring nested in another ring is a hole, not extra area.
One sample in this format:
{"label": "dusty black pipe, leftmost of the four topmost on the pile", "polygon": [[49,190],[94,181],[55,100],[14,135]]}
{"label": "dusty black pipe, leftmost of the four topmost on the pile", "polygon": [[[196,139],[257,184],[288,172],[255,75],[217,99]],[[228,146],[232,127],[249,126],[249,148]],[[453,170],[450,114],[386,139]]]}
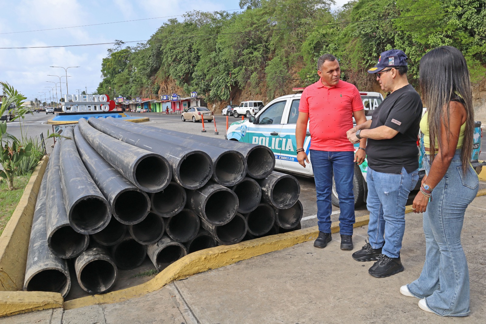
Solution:
{"label": "dusty black pipe, leftmost of the four topmost on the pile", "polygon": [[123,143],[90,126],[83,118],[79,130],[87,142],[126,179],[146,192],[158,192],[172,179],[172,168],[159,154]]}

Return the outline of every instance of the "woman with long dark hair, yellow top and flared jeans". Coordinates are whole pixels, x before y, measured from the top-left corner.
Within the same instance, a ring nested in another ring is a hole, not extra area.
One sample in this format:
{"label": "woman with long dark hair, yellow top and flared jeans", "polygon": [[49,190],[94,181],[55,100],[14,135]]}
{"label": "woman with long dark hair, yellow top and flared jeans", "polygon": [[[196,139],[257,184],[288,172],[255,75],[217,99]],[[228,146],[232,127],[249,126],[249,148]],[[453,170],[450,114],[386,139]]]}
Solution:
{"label": "woman with long dark hair, yellow top and flared jeans", "polygon": [[469,71],[458,49],[441,46],[420,59],[419,73],[427,107],[420,122],[426,176],[412,209],[423,213],[426,254],[420,277],[400,292],[420,298],[425,311],[467,316],[469,271],[461,231],[479,186],[469,163],[474,131]]}

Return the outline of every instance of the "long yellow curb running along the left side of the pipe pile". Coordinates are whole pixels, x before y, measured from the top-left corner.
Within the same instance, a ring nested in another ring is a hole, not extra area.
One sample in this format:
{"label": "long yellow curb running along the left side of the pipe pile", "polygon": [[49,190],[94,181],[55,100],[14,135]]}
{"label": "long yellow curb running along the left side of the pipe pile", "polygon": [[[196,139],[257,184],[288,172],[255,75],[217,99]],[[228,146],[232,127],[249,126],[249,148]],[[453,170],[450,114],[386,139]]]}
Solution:
{"label": "long yellow curb running along the left side of the pipe pile", "polygon": [[22,290],[35,202],[49,158],[37,165],[0,236],[0,290]]}

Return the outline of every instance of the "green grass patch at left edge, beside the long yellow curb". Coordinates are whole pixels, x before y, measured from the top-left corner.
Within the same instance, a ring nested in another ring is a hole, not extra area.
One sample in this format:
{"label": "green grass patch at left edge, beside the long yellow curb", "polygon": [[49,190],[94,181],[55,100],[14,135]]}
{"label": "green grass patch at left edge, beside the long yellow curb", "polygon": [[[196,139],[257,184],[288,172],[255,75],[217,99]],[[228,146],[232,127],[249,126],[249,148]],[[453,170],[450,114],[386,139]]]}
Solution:
{"label": "green grass patch at left edge, beside the long yellow curb", "polygon": [[9,191],[7,182],[0,180],[0,235],[7,225],[10,217],[17,207],[18,201],[24,193],[25,186],[30,179],[29,175],[19,176],[14,178],[14,190]]}

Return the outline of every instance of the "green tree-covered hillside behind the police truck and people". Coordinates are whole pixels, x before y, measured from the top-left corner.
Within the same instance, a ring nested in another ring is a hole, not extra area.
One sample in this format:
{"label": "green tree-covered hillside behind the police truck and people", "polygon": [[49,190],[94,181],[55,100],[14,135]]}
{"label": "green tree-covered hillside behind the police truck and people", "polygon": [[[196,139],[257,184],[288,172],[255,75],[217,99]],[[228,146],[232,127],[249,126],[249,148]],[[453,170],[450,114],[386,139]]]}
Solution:
{"label": "green tree-covered hillside behind the police truck and people", "polygon": [[[442,45],[461,50],[471,80],[485,76],[486,0],[358,0],[331,11],[331,0],[240,0],[240,13],[186,13],[146,43],[119,42],[102,63],[98,93],[148,96],[197,91],[209,102],[266,98],[318,79],[317,58],[334,54],[342,79],[371,90],[366,73],[382,51],[403,50],[409,80]],[[111,90],[109,89],[111,87]]]}

